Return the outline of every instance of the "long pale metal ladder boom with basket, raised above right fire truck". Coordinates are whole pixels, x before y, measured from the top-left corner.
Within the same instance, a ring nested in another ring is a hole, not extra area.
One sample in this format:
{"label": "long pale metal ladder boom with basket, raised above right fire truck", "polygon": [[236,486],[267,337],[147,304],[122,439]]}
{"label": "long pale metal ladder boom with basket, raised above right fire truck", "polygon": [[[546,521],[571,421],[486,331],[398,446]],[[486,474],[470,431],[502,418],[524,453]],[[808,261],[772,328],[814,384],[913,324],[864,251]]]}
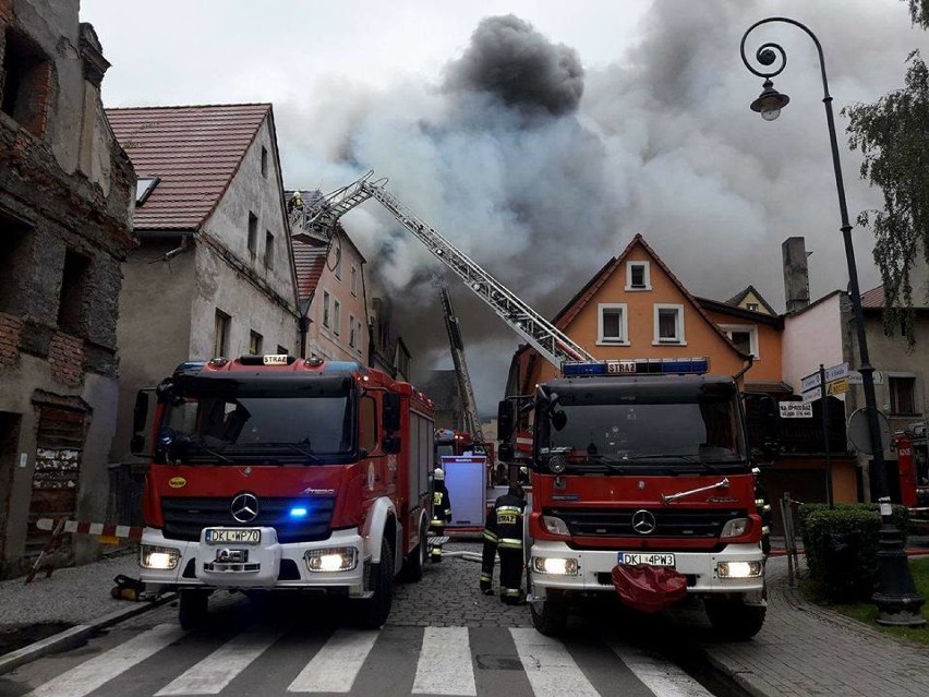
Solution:
{"label": "long pale metal ladder boom with basket, raised above right fire truck", "polygon": [[[554,324],[510,292],[467,254],[458,250],[425,221],[418,218],[384,187],[386,179],[370,181],[367,172],[358,181],[294,212],[293,227],[301,227],[310,238],[329,239],[338,219],[369,199],[377,200],[407,230],[413,233],[432,254],[468,285],[468,288],[493,308],[494,312],[517,334],[529,341],[550,363],[560,370],[564,361],[589,361],[593,357],[558,329]],[[294,235],[300,239],[301,233]]]}

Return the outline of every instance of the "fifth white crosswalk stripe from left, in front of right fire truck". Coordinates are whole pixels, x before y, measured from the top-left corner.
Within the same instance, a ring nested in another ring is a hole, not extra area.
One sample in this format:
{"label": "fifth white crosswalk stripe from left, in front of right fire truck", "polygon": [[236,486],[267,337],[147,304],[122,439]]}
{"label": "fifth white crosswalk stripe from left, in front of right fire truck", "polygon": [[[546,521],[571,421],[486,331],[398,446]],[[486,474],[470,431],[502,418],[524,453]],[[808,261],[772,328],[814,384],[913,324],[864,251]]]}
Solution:
{"label": "fifth white crosswalk stripe from left, in front of right fire truck", "polygon": [[565,645],[535,629],[509,630],[535,697],[600,697]]}

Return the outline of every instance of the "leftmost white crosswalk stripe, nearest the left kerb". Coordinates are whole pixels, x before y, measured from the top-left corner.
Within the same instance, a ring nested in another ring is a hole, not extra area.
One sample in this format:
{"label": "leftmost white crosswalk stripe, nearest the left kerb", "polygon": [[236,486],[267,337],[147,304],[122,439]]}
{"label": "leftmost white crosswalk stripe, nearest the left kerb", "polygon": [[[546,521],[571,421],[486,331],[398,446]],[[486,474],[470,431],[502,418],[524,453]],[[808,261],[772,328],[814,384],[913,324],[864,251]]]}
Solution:
{"label": "leftmost white crosswalk stripe, nearest the left kerb", "polygon": [[186,633],[177,625],[160,624],[62,673],[29,693],[29,697],[84,697],[136,663],[155,656],[184,634]]}

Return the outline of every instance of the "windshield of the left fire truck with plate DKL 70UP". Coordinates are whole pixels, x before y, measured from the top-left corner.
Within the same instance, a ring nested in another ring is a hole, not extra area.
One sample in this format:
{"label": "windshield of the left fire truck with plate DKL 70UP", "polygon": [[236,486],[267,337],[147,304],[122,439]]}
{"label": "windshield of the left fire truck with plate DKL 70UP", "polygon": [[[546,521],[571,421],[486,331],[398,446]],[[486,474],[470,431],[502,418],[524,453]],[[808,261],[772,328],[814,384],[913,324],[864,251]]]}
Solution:
{"label": "windshield of the left fire truck with plate DKL 70UP", "polygon": [[192,462],[333,461],[357,438],[348,383],[330,386],[190,381],[165,406],[159,445]]}

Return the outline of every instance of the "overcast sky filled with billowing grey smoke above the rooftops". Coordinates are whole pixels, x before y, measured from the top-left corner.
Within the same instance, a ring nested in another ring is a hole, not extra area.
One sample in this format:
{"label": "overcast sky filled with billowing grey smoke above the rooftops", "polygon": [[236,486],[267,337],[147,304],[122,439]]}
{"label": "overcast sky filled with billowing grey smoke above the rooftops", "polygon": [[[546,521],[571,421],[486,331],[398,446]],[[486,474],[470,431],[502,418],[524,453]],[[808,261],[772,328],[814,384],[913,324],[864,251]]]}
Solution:
{"label": "overcast sky filled with billowing grey smoke above the rooftops", "polygon": [[[903,86],[929,34],[901,0],[550,0],[352,3],[83,0],[112,63],[107,107],[274,105],[285,185],[387,190],[546,316],[640,232],[696,296],[755,286],[784,309],[781,244],[806,238],[813,300],[848,283],[813,43],[784,47],[776,121],[739,56],[768,16],[822,44],[854,223],[880,207],[848,149],[843,107]],[[395,300],[414,380],[451,359],[435,261],[374,202],[343,226]],[[861,289],[879,285],[854,231]],[[504,395],[519,337],[450,281],[482,414]]]}

